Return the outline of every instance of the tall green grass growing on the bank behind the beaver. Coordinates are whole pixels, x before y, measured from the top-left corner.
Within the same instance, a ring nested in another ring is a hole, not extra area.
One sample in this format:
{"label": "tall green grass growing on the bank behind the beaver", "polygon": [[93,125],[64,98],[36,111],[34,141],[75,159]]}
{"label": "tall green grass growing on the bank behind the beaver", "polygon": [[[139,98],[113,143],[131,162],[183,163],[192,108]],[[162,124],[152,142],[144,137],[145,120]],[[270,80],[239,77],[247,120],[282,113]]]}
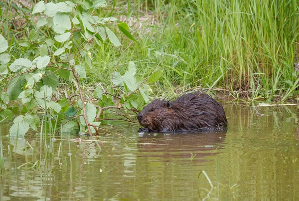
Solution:
{"label": "tall green grass growing on the bank behind the beaver", "polygon": [[[158,65],[164,69],[160,91],[220,87],[232,94],[247,91],[243,93],[246,97],[271,100],[285,100],[297,94],[297,0],[123,3],[116,3],[114,14],[126,15],[129,22],[136,18],[132,32],[140,38],[126,52],[122,51],[130,41],[125,37],[120,52],[107,45],[94,50],[97,67],[90,74],[93,82],[109,81],[121,55],[118,69],[133,60],[145,75],[162,60]],[[149,20],[144,21],[147,17]]]}

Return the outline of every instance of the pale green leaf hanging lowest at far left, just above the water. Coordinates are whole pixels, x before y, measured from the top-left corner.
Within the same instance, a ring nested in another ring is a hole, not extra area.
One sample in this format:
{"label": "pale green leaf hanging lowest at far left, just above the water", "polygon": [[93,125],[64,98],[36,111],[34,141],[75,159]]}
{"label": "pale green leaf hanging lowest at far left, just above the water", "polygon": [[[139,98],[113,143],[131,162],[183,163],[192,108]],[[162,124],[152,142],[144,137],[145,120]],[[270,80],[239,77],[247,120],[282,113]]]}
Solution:
{"label": "pale green leaf hanging lowest at far left, just above the water", "polygon": [[20,115],[13,120],[13,125],[9,129],[11,137],[24,137],[29,129],[29,123],[25,121],[24,116]]}

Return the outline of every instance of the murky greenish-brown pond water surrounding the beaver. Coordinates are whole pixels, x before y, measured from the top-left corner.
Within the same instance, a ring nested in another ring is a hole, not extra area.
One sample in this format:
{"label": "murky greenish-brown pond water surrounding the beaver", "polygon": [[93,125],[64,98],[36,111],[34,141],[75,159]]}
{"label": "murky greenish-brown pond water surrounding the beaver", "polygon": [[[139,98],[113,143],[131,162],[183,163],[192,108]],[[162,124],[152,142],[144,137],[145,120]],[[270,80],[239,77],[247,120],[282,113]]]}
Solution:
{"label": "murky greenish-brown pond water surrounding the beaver", "polygon": [[223,106],[227,132],[123,124],[91,138],[105,142],[55,136],[47,149],[38,135],[3,137],[1,125],[0,200],[299,200],[299,108]]}

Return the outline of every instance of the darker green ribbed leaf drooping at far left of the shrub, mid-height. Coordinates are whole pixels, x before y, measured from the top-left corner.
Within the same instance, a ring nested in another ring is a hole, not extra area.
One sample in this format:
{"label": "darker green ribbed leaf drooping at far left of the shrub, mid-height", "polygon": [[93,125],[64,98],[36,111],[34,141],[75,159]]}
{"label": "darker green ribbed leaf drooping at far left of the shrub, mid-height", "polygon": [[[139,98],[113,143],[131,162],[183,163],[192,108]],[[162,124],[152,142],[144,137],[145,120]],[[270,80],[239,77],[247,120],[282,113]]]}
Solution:
{"label": "darker green ribbed leaf drooping at far left of the shrub, mid-height", "polygon": [[12,78],[7,87],[7,94],[9,95],[9,100],[16,100],[18,95],[23,90],[23,85],[26,79],[24,75],[17,75]]}

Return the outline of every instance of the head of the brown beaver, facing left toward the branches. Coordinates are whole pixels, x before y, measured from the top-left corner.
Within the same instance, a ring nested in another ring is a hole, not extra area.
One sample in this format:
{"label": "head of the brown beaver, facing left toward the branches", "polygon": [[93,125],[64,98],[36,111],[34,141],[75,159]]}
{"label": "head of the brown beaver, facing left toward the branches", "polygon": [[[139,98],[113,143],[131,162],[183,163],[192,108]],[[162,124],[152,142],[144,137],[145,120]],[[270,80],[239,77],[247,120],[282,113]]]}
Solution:
{"label": "head of the brown beaver, facing left toward the branches", "polygon": [[155,99],[137,115],[140,125],[150,130],[160,130],[161,122],[165,116],[171,113],[171,104],[169,101]]}

